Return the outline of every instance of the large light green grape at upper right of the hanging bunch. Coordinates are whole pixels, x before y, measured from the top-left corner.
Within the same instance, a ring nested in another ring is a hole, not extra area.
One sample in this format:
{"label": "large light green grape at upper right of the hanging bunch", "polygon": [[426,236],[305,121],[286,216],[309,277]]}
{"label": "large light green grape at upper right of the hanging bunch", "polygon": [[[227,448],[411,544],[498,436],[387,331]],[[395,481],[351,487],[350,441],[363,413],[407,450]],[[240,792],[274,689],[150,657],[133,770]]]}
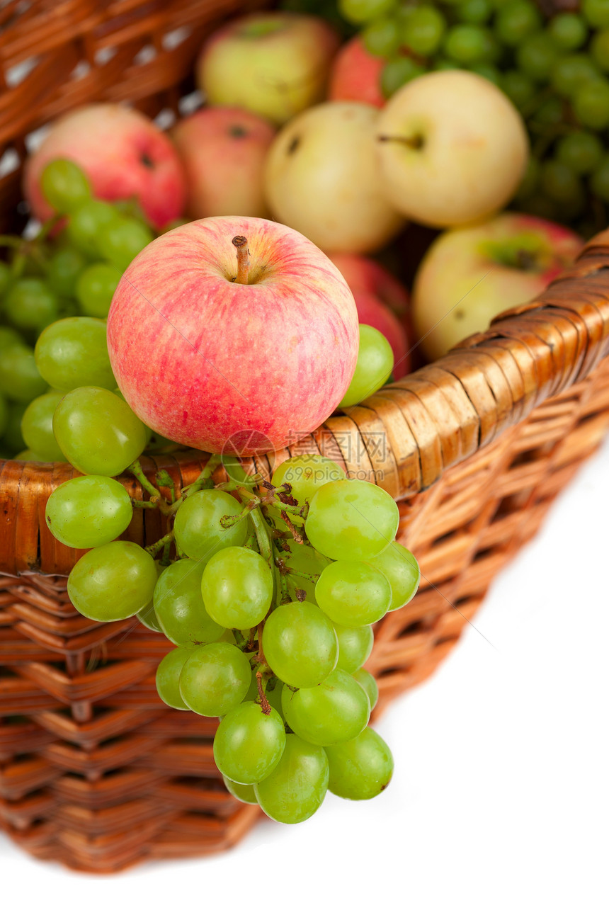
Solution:
{"label": "large light green grape at upper right of the hanging bunch", "polygon": [[330,559],[369,559],[392,543],[399,522],[389,493],[363,479],[337,479],[315,492],[305,531]]}

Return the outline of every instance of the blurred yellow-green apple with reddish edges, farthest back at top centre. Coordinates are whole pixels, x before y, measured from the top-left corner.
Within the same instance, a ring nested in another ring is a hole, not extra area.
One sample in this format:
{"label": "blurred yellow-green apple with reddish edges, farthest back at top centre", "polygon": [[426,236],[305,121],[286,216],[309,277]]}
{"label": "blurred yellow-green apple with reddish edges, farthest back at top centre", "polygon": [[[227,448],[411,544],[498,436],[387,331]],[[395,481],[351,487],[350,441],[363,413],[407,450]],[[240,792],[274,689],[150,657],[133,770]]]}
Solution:
{"label": "blurred yellow-green apple with reddish edges, farthest back at top centre", "polygon": [[209,104],[237,105],[283,124],[324,98],[337,48],[337,33],[317,16],[251,13],[208,38],[198,86]]}

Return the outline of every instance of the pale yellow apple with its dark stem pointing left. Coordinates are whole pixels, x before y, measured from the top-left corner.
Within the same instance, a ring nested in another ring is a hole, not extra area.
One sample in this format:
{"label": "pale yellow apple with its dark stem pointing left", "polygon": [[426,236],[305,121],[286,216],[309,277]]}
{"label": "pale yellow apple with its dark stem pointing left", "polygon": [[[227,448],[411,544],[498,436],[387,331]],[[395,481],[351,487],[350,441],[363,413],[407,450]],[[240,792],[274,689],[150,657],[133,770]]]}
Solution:
{"label": "pale yellow apple with its dark stem pointing left", "polygon": [[406,83],[377,129],[383,192],[409,219],[445,227],[484,219],[518,188],[529,157],[520,114],[492,82],[438,70]]}

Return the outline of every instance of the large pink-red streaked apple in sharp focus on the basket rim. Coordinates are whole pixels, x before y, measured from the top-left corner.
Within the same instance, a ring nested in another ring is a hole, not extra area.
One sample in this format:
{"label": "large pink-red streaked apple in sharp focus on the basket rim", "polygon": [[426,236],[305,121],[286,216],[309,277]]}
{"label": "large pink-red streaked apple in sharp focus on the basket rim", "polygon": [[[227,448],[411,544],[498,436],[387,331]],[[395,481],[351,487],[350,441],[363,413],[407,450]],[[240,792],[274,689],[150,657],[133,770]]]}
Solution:
{"label": "large pink-red streaked apple in sharp focus on the basket rim", "polygon": [[[231,240],[248,239],[250,282]],[[155,432],[251,455],[312,432],[347,391],[358,312],[312,242],[277,222],[216,217],[166,232],[128,267],[108,317],[112,370]]]}

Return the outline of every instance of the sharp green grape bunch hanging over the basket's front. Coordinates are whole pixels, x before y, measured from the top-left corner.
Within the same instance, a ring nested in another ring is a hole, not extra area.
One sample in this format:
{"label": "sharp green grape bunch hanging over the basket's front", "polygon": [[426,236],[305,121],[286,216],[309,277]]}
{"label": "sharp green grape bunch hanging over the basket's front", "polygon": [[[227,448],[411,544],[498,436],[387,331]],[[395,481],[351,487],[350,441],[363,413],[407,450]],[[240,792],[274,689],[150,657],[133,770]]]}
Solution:
{"label": "sharp green grape bunch hanging over the basket's front", "polygon": [[[113,442],[87,426],[102,406],[120,428]],[[62,543],[89,549],[69,598],[90,619],[137,616],[165,633],[175,648],[158,666],[158,694],[220,718],[214,759],[228,790],[282,823],[307,819],[328,789],[353,800],[382,791],[393,760],[369,727],[378,687],[363,665],[373,624],[420,579],[395,542],[390,496],[313,455],[285,461],[265,485],[235,469],[214,487],[211,458],[165,503],[168,533],[143,548],[114,539],[134,503],[112,475],[134,468],[144,426],[101,388],[77,389],[58,411],[58,441],[87,474],[59,486],[46,511]]]}

